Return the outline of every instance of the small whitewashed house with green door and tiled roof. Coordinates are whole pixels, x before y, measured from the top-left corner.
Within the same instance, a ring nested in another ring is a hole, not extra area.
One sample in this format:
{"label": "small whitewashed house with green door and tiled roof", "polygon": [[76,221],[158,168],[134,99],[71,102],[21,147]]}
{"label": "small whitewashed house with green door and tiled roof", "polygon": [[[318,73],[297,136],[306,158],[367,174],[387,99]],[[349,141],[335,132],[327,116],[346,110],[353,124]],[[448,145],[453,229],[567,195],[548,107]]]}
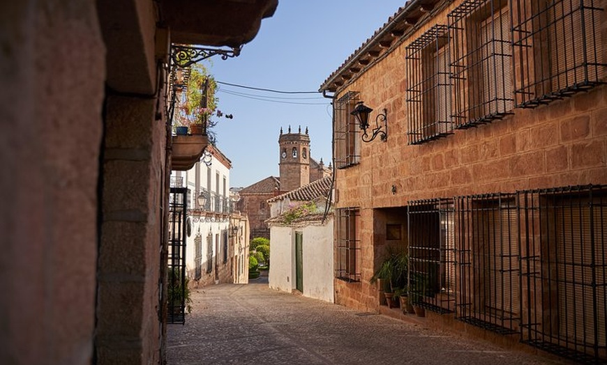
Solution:
{"label": "small whitewashed house with green door and tiled roof", "polygon": [[327,211],[331,177],[268,200],[269,286],[334,302],[333,226]]}

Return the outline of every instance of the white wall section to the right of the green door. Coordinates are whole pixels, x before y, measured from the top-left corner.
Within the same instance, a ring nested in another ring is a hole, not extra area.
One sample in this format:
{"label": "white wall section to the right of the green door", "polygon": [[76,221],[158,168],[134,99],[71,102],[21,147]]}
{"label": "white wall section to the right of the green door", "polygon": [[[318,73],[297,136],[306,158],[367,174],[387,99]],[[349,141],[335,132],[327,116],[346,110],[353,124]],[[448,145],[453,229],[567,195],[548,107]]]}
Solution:
{"label": "white wall section to the right of the green door", "polygon": [[303,232],[304,297],[333,303],[333,217],[328,218],[322,226],[306,226]]}

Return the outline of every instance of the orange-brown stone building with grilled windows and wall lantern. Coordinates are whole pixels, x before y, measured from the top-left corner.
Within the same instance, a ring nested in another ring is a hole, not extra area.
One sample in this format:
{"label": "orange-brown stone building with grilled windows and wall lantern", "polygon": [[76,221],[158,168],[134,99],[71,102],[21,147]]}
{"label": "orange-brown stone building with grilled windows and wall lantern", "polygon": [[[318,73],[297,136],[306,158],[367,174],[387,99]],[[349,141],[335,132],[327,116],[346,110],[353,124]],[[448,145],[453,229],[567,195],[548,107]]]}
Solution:
{"label": "orange-brown stone building with grilled windows and wall lantern", "polygon": [[336,303],[400,248],[428,323],[606,361],[606,8],[410,0],[329,75]]}

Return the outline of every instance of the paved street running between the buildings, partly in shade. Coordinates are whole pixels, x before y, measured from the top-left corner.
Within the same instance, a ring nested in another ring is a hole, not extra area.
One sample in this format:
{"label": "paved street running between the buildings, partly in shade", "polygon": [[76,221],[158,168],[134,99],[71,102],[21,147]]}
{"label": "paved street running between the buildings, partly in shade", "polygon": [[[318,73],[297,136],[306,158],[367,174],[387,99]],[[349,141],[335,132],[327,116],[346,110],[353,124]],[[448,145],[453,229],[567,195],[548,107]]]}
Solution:
{"label": "paved street running between the buildings, partly in shade", "polygon": [[193,290],[186,325],[169,326],[168,364],[567,364],[280,293],[258,280]]}

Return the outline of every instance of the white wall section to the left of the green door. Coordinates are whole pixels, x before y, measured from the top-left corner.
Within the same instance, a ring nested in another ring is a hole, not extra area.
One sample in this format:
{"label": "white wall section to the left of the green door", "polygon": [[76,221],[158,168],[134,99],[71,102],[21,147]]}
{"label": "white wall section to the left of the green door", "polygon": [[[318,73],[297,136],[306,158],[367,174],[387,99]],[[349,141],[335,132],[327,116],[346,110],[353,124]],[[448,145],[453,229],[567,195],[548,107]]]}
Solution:
{"label": "white wall section to the left of the green door", "polygon": [[291,227],[270,227],[269,287],[291,293],[295,284],[294,233]]}

